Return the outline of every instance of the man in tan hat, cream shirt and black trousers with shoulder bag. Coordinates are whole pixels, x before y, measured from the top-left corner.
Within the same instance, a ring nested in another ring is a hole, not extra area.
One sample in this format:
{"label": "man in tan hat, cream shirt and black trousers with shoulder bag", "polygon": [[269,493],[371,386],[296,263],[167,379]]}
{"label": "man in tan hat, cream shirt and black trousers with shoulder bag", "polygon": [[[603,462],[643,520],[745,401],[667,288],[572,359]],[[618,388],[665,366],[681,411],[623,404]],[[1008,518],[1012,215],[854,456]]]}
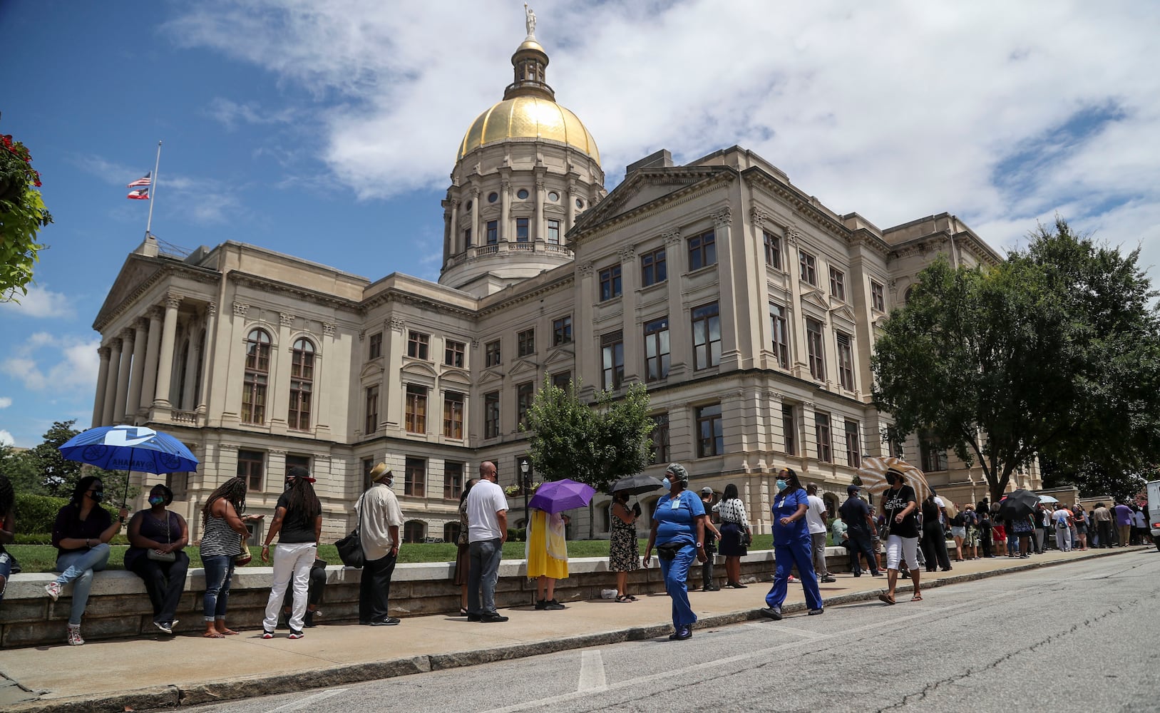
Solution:
{"label": "man in tan hat, cream shirt and black trousers with shoulder bag", "polygon": [[386,470],[385,463],[371,470],[370,480],[370,489],[355,504],[364,558],[362,581],[358,583],[358,624],[393,626],[399,620],[389,614],[387,599],[391,596],[391,575],[399,556],[403,510],[391,489],[394,476]]}

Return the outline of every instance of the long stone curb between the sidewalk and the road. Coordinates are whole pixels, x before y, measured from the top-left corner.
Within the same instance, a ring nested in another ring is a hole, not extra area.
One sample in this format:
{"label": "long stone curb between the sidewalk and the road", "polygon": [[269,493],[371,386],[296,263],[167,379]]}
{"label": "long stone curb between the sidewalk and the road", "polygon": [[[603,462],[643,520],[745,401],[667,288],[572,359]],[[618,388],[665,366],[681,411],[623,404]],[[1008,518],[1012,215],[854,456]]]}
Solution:
{"label": "long stone curb between the sidewalk and the road", "polygon": [[[1070,560],[1054,560],[1050,562],[1027,562],[1002,569],[988,572],[973,572],[970,574],[952,575],[923,583],[923,589],[934,589],[963,582],[973,582],[1005,574],[1029,572],[1043,567],[1054,567],[1072,562],[1112,556],[1137,550],[1115,548],[1108,552],[1090,552]],[[885,584],[885,580],[882,580]],[[901,579],[894,591],[912,591],[914,585],[906,580],[904,585]],[[875,601],[878,594],[885,588],[876,588],[869,591],[857,591],[839,595],[826,599],[827,606],[853,604],[857,602]],[[805,603],[786,604],[784,613],[798,613],[806,610]],[[704,617],[696,628],[715,628],[739,624],[742,621],[764,620],[756,607]],[[226,700],[238,700],[242,698],[255,698],[273,693],[292,693],[307,691],[333,685],[350,683],[363,683],[382,678],[394,678],[397,676],[409,676],[412,674],[427,674],[443,669],[456,669],[495,661],[510,661],[513,659],[524,659],[541,654],[552,654],[568,649],[588,648],[593,646],[608,646],[625,641],[641,641],[657,639],[667,635],[672,631],[669,624],[657,624],[650,626],[635,626],[630,628],[585,634],[581,636],[570,636],[552,641],[534,641],[514,646],[503,646],[473,652],[456,652],[451,654],[425,654],[409,659],[393,659],[387,661],[372,661],[367,663],[355,663],[287,675],[252,676],[242,678],[227,678],[212,681],[197,685],[164,685],[147,689],[124,691],[96,698],[72,697],[61,699],[42,699],[15,704],[7,710],[10,713],[113,713],[123,711],[148,711],[155,708],[175,708],[180,706],[201,705],[210,703],[222,703]]]}

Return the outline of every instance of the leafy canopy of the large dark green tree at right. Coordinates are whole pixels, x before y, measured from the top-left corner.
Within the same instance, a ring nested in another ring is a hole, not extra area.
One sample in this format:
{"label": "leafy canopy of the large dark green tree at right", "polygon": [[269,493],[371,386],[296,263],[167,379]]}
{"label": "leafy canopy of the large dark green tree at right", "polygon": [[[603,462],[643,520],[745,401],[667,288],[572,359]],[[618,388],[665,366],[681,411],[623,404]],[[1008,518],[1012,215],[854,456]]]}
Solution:
{"label": "leafy canopy of the large dark green tree at right", "polygon": [[876,406],[978,463],[993,497],[1041,454],[1143,472],[1160,444],[1160,320],[1138,261],[1061,219],[996,267],[936,261],[875,344]]}

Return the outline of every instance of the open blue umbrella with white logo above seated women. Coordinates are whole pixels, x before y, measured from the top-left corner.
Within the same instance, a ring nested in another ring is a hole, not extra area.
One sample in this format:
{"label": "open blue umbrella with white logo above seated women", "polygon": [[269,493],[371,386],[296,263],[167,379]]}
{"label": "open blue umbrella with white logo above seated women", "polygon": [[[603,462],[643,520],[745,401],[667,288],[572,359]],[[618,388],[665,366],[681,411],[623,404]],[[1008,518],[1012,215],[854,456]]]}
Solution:
{"label": "open blue umbrella with white logo above seated women", "polygon": [[60,454],[107,471],[180,473],[197,470],[197,458],[182,442],[144,425],[90,428],[61,445]]}

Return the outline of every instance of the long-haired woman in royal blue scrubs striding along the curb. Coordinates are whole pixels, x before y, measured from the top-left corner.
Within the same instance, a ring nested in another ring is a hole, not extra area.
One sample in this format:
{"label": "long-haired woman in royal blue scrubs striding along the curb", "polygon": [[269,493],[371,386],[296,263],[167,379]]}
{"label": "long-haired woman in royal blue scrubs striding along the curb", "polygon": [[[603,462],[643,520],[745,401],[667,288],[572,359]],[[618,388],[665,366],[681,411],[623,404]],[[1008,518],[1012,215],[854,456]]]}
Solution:
{"label": "long-haired woman in royal blue scrubs striding along the curb", "polygon": [[805,522],[805,511],[810,507],[805,488],[792,468],[782,468],[777,473],[777,495],[774,496],[774,587],[766,595],[768,609],[761,614],[774,621],[782,618],[782,604],[785,602],[785,584],[790,572],[797,565],[805,589],[805,603],[810,614],[822,612],[821,592],[818,590],[818,577],[813,573],[811,556],[810,528]]}

